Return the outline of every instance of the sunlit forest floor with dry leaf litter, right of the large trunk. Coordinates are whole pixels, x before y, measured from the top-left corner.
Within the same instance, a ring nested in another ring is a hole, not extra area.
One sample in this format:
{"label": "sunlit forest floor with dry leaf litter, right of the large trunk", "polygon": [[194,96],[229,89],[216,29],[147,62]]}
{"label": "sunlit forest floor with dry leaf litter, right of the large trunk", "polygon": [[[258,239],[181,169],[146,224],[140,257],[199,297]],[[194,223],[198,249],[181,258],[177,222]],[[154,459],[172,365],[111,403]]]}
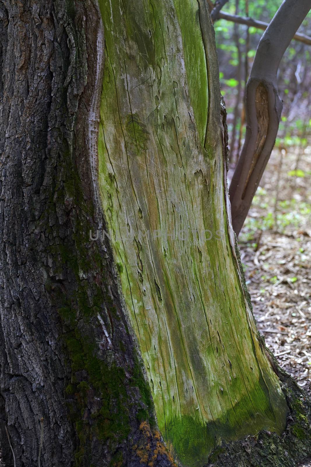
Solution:
{"label": "sunlit forest floor with dry leaf litter, right of the large trunk", "polygon": [[239,236],[260,333],[311,394],[311,148],[275,149]]}

